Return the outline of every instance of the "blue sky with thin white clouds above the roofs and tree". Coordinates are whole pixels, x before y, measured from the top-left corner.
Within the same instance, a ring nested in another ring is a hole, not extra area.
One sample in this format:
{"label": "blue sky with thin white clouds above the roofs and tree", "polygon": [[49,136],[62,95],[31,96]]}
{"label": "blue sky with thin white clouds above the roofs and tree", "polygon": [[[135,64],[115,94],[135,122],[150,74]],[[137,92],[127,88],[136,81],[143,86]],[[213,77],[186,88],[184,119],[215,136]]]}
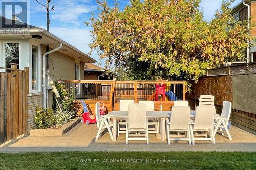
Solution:
{"label": "blue sky with thin white clouds above the roofs and tree", "polygon": [[[38,0],[41,4],[46,4],[46,0]],[[129,5],[129,0],[117,0],[121,9]],[[114,5],[114,0],[107,0],[110,6]],[[232,6],[237,5],[241,0],[235,0]],[[91,27],[86,26],[91,13],[99,12],[96,0],[52,0],[54,10],[50,12],[51,24],[49,31],[57,37],[65,40],[84,53],[90,52],[92,38]],[[202,0],[200,8],[204,13],[204,19],[210,21],[215,11],[221,7],[221,0]],[[30,0],[30,25],[46,28],[46,9],[36,0]],[[91,54],[95,60],[100,61],[95,51]],[[104,67],[104,61],[98,62]]]}

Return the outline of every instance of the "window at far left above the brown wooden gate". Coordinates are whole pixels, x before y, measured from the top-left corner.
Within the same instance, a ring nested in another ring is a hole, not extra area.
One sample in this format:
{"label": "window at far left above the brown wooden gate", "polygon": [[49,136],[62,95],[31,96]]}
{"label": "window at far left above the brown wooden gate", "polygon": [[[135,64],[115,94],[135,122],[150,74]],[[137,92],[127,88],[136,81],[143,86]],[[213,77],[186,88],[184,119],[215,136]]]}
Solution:
{"label": "window at far left above the brown wooden gate", "polygon": [[19,43],[5,43],[4,48],[6,67],[11,68],[10,63],[19,64]]}

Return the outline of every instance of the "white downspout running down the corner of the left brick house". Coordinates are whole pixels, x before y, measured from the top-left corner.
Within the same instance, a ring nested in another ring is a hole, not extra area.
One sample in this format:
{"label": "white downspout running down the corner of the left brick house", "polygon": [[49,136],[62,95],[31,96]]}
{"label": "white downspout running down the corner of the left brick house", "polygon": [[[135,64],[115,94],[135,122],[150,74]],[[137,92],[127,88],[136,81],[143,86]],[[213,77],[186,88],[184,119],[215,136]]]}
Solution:
{"label": "white downspout running down the corner of the left brick house", "polygon": [[59,44],[59,47],[49,51],[49,52],[46,52],[45,54],[42,55],[42,92],[43,92],[43,97],[44,97],[44,104],[43,104],[43,107],[44,109],[46,109],[46,106],[47,106],[47,92],[46,92],[46,75],[49,73],[49,70],[46,71],[46,55],[50,54],[50,53],[53,53],[57,50],[59,50],[60,48],[62,48],[63,44],[60,43]]}

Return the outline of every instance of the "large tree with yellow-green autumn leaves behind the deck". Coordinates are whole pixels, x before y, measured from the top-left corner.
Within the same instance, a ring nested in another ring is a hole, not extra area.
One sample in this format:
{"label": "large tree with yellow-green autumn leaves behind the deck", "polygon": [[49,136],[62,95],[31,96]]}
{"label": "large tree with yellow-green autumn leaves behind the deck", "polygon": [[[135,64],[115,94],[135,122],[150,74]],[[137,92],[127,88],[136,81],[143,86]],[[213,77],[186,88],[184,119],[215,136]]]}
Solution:
{"label": "large tree with yellow-green autumn leaves behind the deck", "polygon": [[207,68],[244,59],[251,37],[246,21],[234,23],[231,2],[206,22],[200,0],[131,0],[123,11],[98,1],[90,47],[132,79],[197,81]]}

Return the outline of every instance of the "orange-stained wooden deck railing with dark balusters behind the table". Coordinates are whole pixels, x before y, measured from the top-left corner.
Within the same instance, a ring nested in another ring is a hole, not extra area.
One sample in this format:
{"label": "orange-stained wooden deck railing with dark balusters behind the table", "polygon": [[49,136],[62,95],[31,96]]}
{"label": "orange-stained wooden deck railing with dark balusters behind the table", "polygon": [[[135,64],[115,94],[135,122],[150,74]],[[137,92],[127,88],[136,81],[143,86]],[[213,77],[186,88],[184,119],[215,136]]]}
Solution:
{"label": "orange-stained wooden deck railing with dark balusters behind the table", "polygon": [[81,100],[94,114],[95,103],[104,102],[108,111],[119,110],[119,101],[133,99],[135,103],[152,100],[155,110],[170,110],[174,100],[185,100],[186,81],[65,81],[67,90],[78,85],[75,108],[82,114]]}

